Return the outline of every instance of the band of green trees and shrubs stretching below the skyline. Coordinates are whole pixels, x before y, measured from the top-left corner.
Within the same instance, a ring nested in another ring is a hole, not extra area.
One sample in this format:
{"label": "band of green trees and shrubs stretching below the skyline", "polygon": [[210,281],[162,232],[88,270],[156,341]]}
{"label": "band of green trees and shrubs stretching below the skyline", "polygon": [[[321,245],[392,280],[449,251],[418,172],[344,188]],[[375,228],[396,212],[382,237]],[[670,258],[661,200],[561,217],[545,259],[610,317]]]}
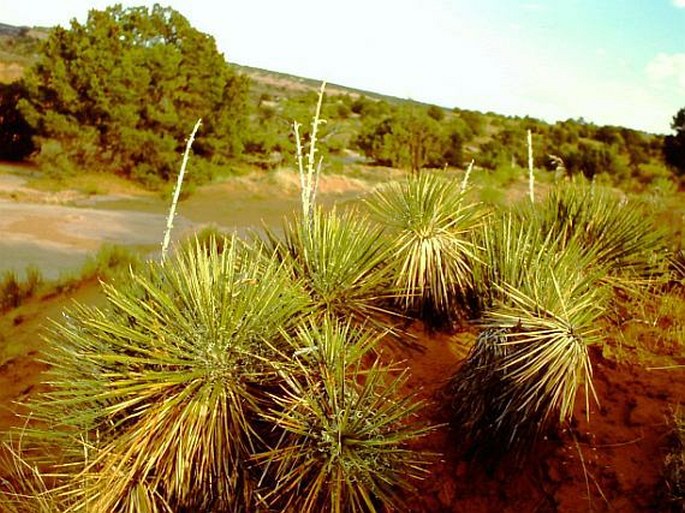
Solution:
{"label": "band of green trees and shrubs stretching below the skyline", "polygon": [[[236,74],[210,37],[169,9],[105,13],[91,13],[86,24],[70,30],[54,30],[37,56],[32,32],[0,41],[0,59],[34,62],[26,78],[32,99],[21,113],[39,129],[37,160],[46,169],[87,165],[153,185],[173,174],[176,153],[200,116],[205,123],[195,149],[201,158],[194,160],[192,179],[206,178],[219,166],[230,169],[222,164],[236,155],[267,170],[292,165],[292,123],[301,124],[306,141],[316,82],[252,68]],[[120,23],[128,23],[121,37],[101,41],[102,32]],[[112,66],[114,71],[108,71]],[[246,94],[247,76],[253,80]],[[47,102],[54,109],[50,115]],[[126,107],[127,102],[133,105]],[[0,103],[13,110],[12,101]],[[14,110],[5,117],[20,119]],[[336,172],[360,161],[417,171],[463,167],[474,159],[477,168],[507,176],[527,163],[530,129],[536,168],[555,171],[557,177],[582,174],[625,190],[663,191],[675,189],[682,175],[677,116],[676,134],[664,138],[582,118],[547,123],[335,86],[322,117],[329,123],[321,126],[319,152],[326,168]]]}

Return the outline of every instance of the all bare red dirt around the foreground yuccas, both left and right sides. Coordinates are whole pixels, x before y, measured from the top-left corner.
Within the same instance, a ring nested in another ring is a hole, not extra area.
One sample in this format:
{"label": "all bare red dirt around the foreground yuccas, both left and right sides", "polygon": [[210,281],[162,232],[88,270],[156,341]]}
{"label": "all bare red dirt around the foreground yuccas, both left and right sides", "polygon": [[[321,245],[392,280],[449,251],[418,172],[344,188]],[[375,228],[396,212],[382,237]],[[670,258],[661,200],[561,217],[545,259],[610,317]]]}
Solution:
{"label": "all bare red dirt around the foreground yuccas, both left and right sides", "polygon": [[[97,286],[75,293],[82,301],[97,297]],[[46,317],[59,317],[64,298],[34,300],[18,312],[0,316],[0,341],[19,344],[16,355],[0,365],[0,430],[21,423],[13,401],[24,400],[39,386],[44,365],[36,361],[42,341],[37,335]],[[655,327],[645,326],[640,337]],[[427,420],[445,420],[438,407],[439,391],[458,368],[475,339],[466,329],[454,335],[428,335],[416,328],[422,352],[395,349],[411,369],[409,387],[434,401]],[[607,331],[607,338],[614,334]],[[3,343],[0,343],[2,346]],[[604,351],[604,354],[603,354]],[[572,427],[540,443],[524,468],[501,466],[493,475],[459,456],[459,441],[439,428],[421,446],[442,454],[419,493],[408,499],[417,513],[581,513],[685,511],[667,504],[662,479],[665,451],[672,430],[672,408],[685,398],[682,342],[658,345],[646,357],[624,353],[608,356],[611,346],[593,348],[594,382],[600,405],[585,420],[579,398]],[[680,367],[674,367],[679,365]],[[669,367],[659,369],[654,367]],[[652,369],[652,370],[650,370]]]}

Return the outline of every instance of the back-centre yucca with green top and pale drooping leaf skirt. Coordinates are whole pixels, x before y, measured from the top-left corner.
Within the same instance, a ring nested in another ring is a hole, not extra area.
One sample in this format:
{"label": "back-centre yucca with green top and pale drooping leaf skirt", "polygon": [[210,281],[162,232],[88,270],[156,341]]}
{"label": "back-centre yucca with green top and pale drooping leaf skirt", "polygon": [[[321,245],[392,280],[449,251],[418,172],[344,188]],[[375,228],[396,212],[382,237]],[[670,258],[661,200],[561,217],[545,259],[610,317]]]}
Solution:
{"label": "back-centre yucca with green top and pale drooping leaf skirt", "polygon": [[430,173],[381,187],[366,204],[388,230],[396,303],[434,324],[452,320],[473,284],[483,211],[458,183]]}

